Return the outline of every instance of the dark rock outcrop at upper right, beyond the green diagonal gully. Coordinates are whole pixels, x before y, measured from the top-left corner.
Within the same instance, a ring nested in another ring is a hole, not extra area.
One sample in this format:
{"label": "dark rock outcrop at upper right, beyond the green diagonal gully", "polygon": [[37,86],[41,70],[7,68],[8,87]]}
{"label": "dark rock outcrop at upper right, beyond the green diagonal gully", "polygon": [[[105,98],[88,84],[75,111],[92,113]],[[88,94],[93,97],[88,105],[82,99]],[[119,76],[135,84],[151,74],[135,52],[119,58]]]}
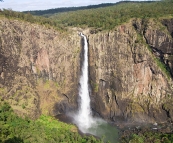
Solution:
{"label": "dark rock outcrop at upper right, beyond the green diagonal gully", "polygon": [[160,27],[154,28],[152,26],[153,22],[150,21],[145,30],[144,37],[147,44],[152,48],[154,55],[166,65],[167,70],[173,76],[173,19],[163,20],[162,23],[166,27],[160,25]]}

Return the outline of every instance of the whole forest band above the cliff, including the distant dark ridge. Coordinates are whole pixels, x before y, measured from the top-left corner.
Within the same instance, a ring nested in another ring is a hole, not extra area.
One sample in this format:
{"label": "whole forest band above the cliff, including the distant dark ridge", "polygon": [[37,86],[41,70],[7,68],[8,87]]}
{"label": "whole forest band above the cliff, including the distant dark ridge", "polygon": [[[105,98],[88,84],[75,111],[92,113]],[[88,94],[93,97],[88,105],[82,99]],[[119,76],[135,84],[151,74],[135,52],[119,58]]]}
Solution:
{"label": "whole forest band above the cliff, including the distant dark ridge", "polygon": [[[173,16],[173,0],[158,2],[119,2],[117,4],[101,4],[87,7],[58,8],[45,11],[14,12],[2,10],[0,15],[17,18],[48,27],[53,26],[64,31],[64,26],[94,27],[111,30],[115,26],[128,22],[131,18],[161,18]],[[33,16],[35,15],[44,15]]]}

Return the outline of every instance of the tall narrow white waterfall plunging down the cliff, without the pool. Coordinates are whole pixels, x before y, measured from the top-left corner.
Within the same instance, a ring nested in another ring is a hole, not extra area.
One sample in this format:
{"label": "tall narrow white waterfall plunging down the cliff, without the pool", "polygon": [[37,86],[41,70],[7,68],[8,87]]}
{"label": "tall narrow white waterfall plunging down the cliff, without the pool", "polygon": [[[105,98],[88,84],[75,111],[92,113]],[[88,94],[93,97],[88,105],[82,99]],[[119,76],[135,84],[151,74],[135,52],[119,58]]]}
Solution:
{"label": "tall narrow white waterfall plunging down the cliff, without the pool", "polygon": [[80,33],[80,36],[84,40],[84,52],[83,52],[83,61],[80,77],[80,87],[79,87],[79,111],[75,117],[76,123],[80,130],[84,133],[88,128],[91,127],[93,118],[91,116],[90,109],[90,96],[89,96],[89,86],[88,86],[88,43],[85,35]]}

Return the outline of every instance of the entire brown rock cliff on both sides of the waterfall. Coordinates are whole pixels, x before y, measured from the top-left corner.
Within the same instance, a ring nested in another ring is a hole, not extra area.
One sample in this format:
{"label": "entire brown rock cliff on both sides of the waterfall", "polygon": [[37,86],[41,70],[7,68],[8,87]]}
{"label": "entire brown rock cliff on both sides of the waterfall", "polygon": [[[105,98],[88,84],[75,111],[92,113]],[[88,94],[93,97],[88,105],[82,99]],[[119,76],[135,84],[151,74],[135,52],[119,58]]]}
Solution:
{"label": "entire brown rock cliff on both sides of the waterfall", "polygon": [[[173,120],[172,25],[170,19],[132,19],[112,31],[84,30],[95,115]],[[81,38],[70,30],[0,20],[0,95],[18,114],[37,118],[77,108]]]}

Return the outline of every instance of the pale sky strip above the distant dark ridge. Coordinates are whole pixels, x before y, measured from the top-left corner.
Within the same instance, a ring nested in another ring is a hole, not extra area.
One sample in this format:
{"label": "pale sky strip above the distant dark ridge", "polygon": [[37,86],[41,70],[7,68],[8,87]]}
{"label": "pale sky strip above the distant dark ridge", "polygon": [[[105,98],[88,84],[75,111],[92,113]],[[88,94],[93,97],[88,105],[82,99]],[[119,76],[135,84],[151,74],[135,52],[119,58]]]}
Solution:
{"label": "pale sky strip above the distant dark ridge", "polygon": [[3,0],[0,8],[15,11],[45,10],[58,7],[86,6],[101,3],[116,3],[119,0]]}

